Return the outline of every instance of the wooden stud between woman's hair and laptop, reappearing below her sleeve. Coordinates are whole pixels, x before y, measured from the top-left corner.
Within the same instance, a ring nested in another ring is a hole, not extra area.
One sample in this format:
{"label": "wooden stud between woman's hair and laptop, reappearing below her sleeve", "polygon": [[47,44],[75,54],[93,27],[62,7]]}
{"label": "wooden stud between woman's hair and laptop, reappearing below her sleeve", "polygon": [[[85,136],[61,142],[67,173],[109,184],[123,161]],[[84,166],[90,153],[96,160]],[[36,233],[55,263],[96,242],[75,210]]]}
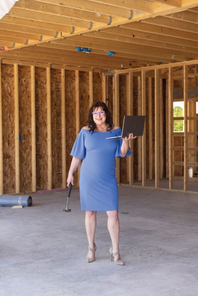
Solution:
{"label": "wooden stud between woman's hair and laptop, reappearing below her sleeve", "polygon": [[[113,123],[119,126],[119,75],[113,77]],[[120,159],[116,158],[116,178],[120,184]]]}

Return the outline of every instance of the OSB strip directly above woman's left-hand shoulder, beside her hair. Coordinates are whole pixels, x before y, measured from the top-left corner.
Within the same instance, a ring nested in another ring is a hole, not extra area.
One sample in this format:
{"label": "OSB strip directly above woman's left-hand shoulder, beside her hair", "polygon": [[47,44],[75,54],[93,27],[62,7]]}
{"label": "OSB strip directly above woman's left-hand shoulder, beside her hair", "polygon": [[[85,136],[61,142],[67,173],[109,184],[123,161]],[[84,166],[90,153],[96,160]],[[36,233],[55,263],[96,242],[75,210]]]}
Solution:
{"label": "OSB strip directly above woman's left-hand shoulder, beside her hair", "polygon": [[80,89],[80,129],[88,125],[89,112],[89,73],[79,72]]}

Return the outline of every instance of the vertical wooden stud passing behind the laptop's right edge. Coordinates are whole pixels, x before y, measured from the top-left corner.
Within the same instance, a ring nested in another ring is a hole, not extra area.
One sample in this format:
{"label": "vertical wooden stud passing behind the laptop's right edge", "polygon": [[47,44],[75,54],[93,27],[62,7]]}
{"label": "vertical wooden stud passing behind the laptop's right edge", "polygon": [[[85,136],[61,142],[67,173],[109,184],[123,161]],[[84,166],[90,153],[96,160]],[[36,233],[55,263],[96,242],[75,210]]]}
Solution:
{"label": "vertical wooden stud passing behind the laptop's right edge", "polygon": [[[146,115],[146,73],[142,70],[142,115]],[[142,186],[146,185],[146,119],[142,136]]]}

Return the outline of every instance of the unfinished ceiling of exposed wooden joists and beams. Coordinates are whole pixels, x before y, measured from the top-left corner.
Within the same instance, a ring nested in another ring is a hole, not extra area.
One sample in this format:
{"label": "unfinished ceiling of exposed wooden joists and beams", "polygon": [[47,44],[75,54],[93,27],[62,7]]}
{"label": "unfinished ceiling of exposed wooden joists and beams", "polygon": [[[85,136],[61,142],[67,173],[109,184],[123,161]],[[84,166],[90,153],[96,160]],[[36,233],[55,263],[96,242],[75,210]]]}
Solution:
{"label": "unfinished ceiling of exposed wooden joists and beams", "polygon": [[198,59],[198,1],[19,0],[0,20],[0,58],[79,70]]}

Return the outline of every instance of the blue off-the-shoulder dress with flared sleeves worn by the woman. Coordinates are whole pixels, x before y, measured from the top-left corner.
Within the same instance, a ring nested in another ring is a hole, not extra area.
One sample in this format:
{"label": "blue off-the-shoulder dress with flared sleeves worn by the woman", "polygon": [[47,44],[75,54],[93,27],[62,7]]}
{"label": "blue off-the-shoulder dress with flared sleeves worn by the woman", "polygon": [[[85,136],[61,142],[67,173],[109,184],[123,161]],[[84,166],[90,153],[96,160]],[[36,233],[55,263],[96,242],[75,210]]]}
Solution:
{"label": "blue off-the-shoulder dress with flared sleeves worn by the woman", "polygon": [[[80,168],[80,203],[83,211],[118,210],[118,184],[115,157],[121,157],[121,128],[104,133],[84,128],[78,134],[70,155],[83,158]],[[131,155],[130,147],[126,156]],[[125,156],[125,157],[126,157]]]}

